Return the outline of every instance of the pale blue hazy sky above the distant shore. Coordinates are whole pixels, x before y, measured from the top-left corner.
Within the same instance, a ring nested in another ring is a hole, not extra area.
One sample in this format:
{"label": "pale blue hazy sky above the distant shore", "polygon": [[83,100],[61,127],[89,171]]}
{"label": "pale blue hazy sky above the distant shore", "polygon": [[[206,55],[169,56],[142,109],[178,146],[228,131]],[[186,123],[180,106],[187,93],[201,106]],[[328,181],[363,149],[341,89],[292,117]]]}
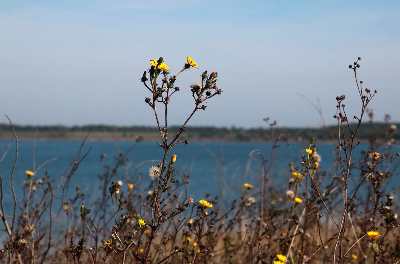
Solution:
{"label": "pale blue hazy sky above the distant shore", "polygon": [[340,95],[360,116],[348,68],[357,57],[363,89],[378,89],[374,121],[399,122],[399,23],[399,1],[2,0],[0,121],[156,126],[140,77],[150,59],[163,57],[173,75],[189,55],[198,69],[178,76],[169,125],[188,118],[190,84],[206,70],[223,92],[188,126],[335,124]]}

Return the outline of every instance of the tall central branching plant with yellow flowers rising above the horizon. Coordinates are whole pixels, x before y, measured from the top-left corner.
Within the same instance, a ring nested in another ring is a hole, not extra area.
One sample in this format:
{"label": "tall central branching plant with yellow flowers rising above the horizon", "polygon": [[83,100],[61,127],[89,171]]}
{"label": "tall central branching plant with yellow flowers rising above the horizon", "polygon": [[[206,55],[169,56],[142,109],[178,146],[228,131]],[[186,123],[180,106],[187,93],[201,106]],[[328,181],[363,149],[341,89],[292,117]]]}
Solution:
{"label": "tall central branching plant with yellow flowers rising above the horizon", "polygon": [[[171,158],[170,164],[166,167],[166,159],[168,156],[168,151],[176,146],[178,143],[188,144],[189,140],[178,141],[179,136],[186,130],[185,126],[189,122],[190,118],[194,115],[197,110],[205,110],[206,106],[202,104],[206,100],[214,97],[215,95],[220,95],[222,90],[217,88],[216,81],[218,77],[218,73],[212,71],[210,75],[207,75],[207,71],[204,71],[201,75],[201,81],[194,81],[192,85],[190,85],[192,97],[194,99],[194,110],[183,123],[180,130],[176,133],[174,138],[168,141],[168,104],[171,102],[171,97],[174,93],[180,91],[178,86],[175,86],[175,81],[183,71],[190,69],[192,67],[197,68],[197,63],[194,62],[189,56],[186,57],[186,64],[184,68],[179,71],[176,75],[172,75],[168,77],[169,69],[164,62],[164,59],[160,57],[159,59],[150,60],[151,67],[148,71],[144,71],[142,78],[140,79],[144,86],[150,91],[151,98],[146,97],[145,102],[153,109],[154,116],[156,118],[158,130],[160,131],[161,143],[158,143],[158,146],[164,149],[164,157],[162,159],[162,163],[158,164],[158,167],[161,168],[159,171],[157,167],[153,167],[150,169],[150,176],[158,179],[158,187],[157,190],[153,193],[153,201],[151,203],[152,207],[152,219],[150,222],[151,234],[149,237],[149,242],[146,250],[146,255],[144,256],[143,262],[146,263],[148,260],[148,256],[150,254],[150,247],[153,239],[156,236],[156,232],[158,227],[165,222],[166,220],[186,211],[190,203],[193,201],[189,199],[187,203],[181,204],[178,208],[172,213],[160,212],[160,207],[162,206],[162,197],[164,193],[170,188],[170,185],[175,182],[175,179],[172,177],[172,168],[176,155],[174,154]],[[149,74],[149,78],[147,77],[147,73]],[[160,75],[160,78],[158,78]],[[157,79],[161,81],[161,85],[157,83]],[[150,81],[150,86],[148,85],[148,81]],[[163,104],[164,106],[164,126],[161,127],[160,120],[158,119],[158,114],[156,110],[156,105]],[[200,105],[202,104],[202,105]]]}

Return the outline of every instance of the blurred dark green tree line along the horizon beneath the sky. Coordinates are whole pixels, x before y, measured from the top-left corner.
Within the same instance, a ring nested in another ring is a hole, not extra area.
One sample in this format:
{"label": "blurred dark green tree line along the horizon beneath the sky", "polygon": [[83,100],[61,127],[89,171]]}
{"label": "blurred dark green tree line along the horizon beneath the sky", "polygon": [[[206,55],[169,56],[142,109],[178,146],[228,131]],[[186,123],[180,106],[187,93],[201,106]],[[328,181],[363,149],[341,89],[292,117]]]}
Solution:
{"label": "blurred dark green tree line along the horizon beneath the sky", "polygon": [[[356,128],[356,124],[349,124],[350,128]],[[32,132],[32,136],[36,130],[40,132],[51,132],[53,135],[58,135],[60,138],[74,132],[107,132],[118,133],[122,136],[146,136],[146,134],[157,134],[157,128],[150,126],[112,126],[112,125],[84,125],[84,126],[32,126],[32,125],[13,125],[17,135],[18,132],[24,132],[26,135]],[[363,123],[360,126],[359,138],[363,140],[372,140],[374,138],[386,138],[389,135],[394,138],[399,138],[399,123],[387,124],[384,122],[378,123]],[[168,130],[179,130],[179,126],[171,126]],[[319,140],[333,140],[338,133],[336,125],[321,126],[319,128],[288,128],[276,127],[270,125],[268,128],[218,128],[214,126],[188,126],[185,130],[185,136],[197,138],[199,140],[237,140],[237,141],[256,141],[256,140],[271,140],[270,130],[274,130],[274,137],[280,136],[280,140],[301,141],[303,139],[316,138]],[[1,136],[9,135],[11,127],[9,124],[0,124]]]}

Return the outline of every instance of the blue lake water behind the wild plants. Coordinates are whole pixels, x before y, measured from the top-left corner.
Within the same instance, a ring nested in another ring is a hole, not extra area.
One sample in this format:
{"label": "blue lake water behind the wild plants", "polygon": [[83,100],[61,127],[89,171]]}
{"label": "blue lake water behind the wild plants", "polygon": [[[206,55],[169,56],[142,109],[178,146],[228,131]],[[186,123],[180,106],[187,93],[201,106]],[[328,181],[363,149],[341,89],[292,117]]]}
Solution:
{"label": "blue lake water behind the wild plants", "polygon": [[[9,141],[1,140],[1,153],[4,154]],[[82,142],[78,141],[36,141],[35,146],[35,168],[47,160],[57,158],[44,164],[38,171],[36,171],[35,179],[41,179],[45,171],[50,178],[55,179],[55,184],[58,183],[63,171],[66,171],[68,165],[72,162],[75,154],[78,152]],[[122,168],[118,169],[118,176],[113,180],[121,180],[124,183],[123,191],[126,191],[127,183],[138,183],[141,181],[143,195],[146,196],[149,191],[148,184],[151,179],[148,177],[148,170],[150,167],[157,165],[161,162],[164,150],[160,148],[155,142],[140,142],[135,145],[134,142],[118,142],[118,148],[121,152],[126,152],[132,146],[132,151],[128,154],[128,168],[127,175],[125,175]],[[320,170],[328,170],[327,179],[330,173],[333,173],[330,165],[334,158],[333,144],[319,144],[315,142],[318,147],[318,153],[322,156],[320,162]],[[270,163],[270,152],[272,145],[270,143],[240,143],[240,142],[190,142],[190,144],[178,144],[168,154],[168,159],[172,154],[178,156],[175,167],[181,173],[186,175],[190,174],[189,183],[187,185],[187,196],[184,188],[178,189],[178,193],[182,194],[183,199],[193,198],[194,201],[205,199],[206,193],[210,194],[210,199],[215,196],[224,195],[226,197],[225,203],[233,199],[240,198],[240,190],[244,182],[250,183],[256,187],[260,186],[260,156],[256,155],[253,160],[250,160],[249,154],[255,149],[261,150],[266,160],[266,166]],[[273,163],[268,185],[273,185],[277,192],[284,191],[287,186],[288,180],[292,177],[289,171],[288,163],[291,161],[294,166],[301,167],[302,154],[304,149],[308,148],[306,144],[291,143],[286,146],[281,143],[280,147],[275,149],[277,154],[276,160]],[[367,144],[360,144],[355,152],[353,160],[360,157],[360,150],[367,149]],[[103,183],[99,181],[99,175],[104,170],[100,163],[100,155],[106,154],[103,162],[112,165],[115,161],[115,156],[118,156],[116,150],[116,143],[114,142],[85,142],[82,154],[86,157],[80,163],[78,170],[74,173],[70,182],[69,196],[74,196],[75,186],[80,186],[80,191],[86,193],[87,197],[91,199],[98,199],[96,191],[100,189]],[[399,152],[398,148],[392,148],[390,154],[396,156]],[[22,181],[26,180],[25,170],[34,170],[33,167],[33,154],[34,142],[33,141],[19,141],[18,142],[18,161],[14,171],[14,186],[17,196],[22,198]],[[389,154],[385,154],[387,157]],[[15,142],[12,142],[10,149],[1,163],[1,175],[3,178],[3,195],[4,195],[4,209],[6,215],[12,212],[12,198],[10,195],[10,173],[15,158]],[[248,170],[246,170],[248,164]],[[399,187],[399,171],[398,171],[398,158],[391,166],[394,171],[390,181],[386,184],[385,189],[395,195],[395,201],[398,204],[398,187]],[[356,173],[354,173],[356,174]],[[179,175],[174,175],[175,178],[180,179]],[[359,177],[359,176],[358,176]],[[182,182],[182,181],[181,181]],[[350,190],[356,186],[357,181],[350,182]],[[110,183],[108,183],[110,186]],[[254,188],[255,190],[256,188]],[[223,192],[224,191],[224,192]],[[286,190],[285,190],[286,191]],[[256,195],[256,193],[254,193]]]}

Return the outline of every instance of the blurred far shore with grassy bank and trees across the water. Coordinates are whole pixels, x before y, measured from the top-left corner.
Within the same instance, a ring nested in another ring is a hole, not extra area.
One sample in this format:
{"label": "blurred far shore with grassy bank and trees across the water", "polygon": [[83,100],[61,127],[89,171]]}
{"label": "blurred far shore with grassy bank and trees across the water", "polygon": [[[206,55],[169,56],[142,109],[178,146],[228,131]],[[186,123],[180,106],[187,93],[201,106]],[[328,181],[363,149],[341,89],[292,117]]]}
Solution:
{"label": "blurred far shore with grassy bank and trees across the water", "polygon": [[[350,124],[353,131],[356,124]],[[13,140],[14,134],[9,124],[0,126],[1,140]],[[399,123],[364,123],[361,124],[356,140],[368,142],[371,139],[388,141],[393,144],[399,141]],[[146,126],[18,126],[14,125],[18,140],[66,140],[83,141],[161,141],[160,131]],[[168,127],[168,139],[172,140],[180,127]],[[279,142],[308,142],[315,138],[319,142],[338,142],[337,126],[319,128],[273,128],[274,137],[271,137],[269,128],[215,128],[215,127],[186,127],[179,140],[188,139],[192,142],[271,142],[279,137]],[[347,135],[348,136],[348,135]]]}

